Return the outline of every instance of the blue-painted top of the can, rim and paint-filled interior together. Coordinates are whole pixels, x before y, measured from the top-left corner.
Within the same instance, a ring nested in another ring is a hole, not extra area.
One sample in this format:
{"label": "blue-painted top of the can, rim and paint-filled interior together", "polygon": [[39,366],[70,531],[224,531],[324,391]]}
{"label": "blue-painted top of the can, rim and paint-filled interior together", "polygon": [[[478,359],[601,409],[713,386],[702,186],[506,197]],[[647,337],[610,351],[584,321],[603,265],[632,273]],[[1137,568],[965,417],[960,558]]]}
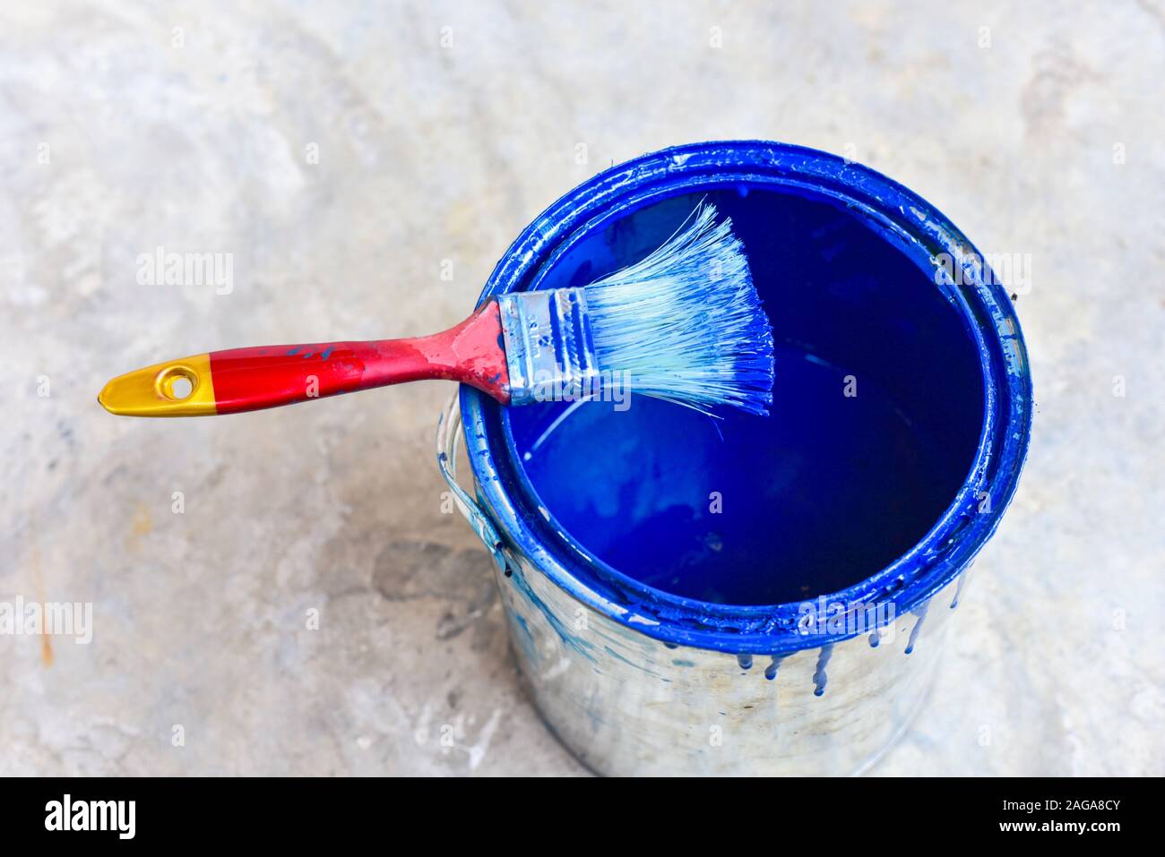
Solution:
{"label": "blue-painted top of the can, rim and paint-filled interior together", "polygon": [[[925,200],[822,153],[682,147],[614,168],[517,239],[482,299],[589,282],[726,215],[772,323],[772,416],[634,397],[506,409],[463,388],[469,461],[503,538],[582,603],[670,645],[785,654],[798,604],[917,608],[994,532],[1028,448],[1019,326]],[[856,396],[846,396],[856,382]],[[552,427],[552,430],[551,430]],[[980,514],[987,491],[991,511]],[[719,510],[714,511],[719,497]]]}

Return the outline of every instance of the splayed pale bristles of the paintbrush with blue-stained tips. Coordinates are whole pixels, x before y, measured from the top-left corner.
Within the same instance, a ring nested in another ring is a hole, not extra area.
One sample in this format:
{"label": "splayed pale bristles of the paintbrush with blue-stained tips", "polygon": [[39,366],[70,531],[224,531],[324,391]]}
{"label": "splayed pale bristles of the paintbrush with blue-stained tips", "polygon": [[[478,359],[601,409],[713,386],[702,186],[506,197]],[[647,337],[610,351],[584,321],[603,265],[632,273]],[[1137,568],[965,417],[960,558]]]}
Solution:
{"label": "splayed pale bristles of the paintbrush with blue-stained tips", "polygon": [[701,204],[657,250],[584,288],[599,367],[631,392],[765,415],[772,328],[732,220]]}

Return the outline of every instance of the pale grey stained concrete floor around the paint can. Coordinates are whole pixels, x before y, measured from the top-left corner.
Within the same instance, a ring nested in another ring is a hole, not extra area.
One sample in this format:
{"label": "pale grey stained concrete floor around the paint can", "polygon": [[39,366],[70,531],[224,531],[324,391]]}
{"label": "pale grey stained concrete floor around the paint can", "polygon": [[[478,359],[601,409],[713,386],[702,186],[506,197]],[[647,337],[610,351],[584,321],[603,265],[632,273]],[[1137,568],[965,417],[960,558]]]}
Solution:
{"label": "pale grey stained concrete floor around the paint can", "polygon": [[[0,602],[92,602],[93,640],[0,636],[0,774],[582,773],[442,514],[447,387],[177,422],[94,395],[442,328],[581,179],[728,137],[1032,260],[1025,477],[874,773],[1162,773],[1163,40],[1160,0],[5,3]],[[233,289],[139,283],[158,246],[233,254]]]}

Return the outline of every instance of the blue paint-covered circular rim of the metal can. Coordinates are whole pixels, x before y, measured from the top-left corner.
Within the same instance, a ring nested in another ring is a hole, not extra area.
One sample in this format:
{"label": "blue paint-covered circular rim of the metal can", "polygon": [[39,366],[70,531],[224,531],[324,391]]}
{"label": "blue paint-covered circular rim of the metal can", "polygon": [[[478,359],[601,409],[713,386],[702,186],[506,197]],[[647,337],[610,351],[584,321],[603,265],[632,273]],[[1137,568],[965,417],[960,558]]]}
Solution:
{"label": "blue paint-covered circular rim of the metal can", "polygon": [[[692,143],[613,167],[546,208],[502,256],[479,305],[496,295],[536,288],[570,247],[629,211],[741,183],[831,197],[892,229],[899,250],[923,265],[933,267],[940,253],[955,260],[982,258],[933,206],[874,170],[785,143]],[[860,583],[822,596],[826,602],[892,604],[896,616],[916,610],[970,564],[1015,494],[1031,437],[1028,352],[1011,302],[1003,286],[994,284],[990,269],[965,264],[962,279],[962,285],[935,288],[963,313],[980,352],[984,420],[974,465],[949,508],[913,548]],[[461,388],[460,399],[478,496],[507,550],[524,554],[551,582],[592,609],[670,645],[733,653],[783,654],[857,636],[799,632],[803,602],[712,604],[664,593],[607,566],[537,511],[506,409],[468,387]],[[981,512],[984,508],[989,511]]]}

